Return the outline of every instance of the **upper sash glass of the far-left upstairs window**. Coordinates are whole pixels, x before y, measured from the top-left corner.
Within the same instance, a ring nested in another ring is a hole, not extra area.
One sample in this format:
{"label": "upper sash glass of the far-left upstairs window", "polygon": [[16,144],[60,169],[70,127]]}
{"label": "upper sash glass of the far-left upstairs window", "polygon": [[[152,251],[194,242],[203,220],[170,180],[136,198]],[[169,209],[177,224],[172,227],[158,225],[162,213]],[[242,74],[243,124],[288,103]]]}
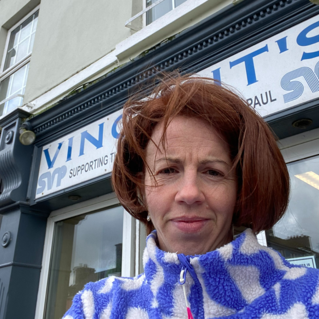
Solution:
{"label": "upper sash glass of the far-left upstairs window", "polygon": [[[4,70],[22,60],[32,52],[34,32],[38,22],[39,11],[11,32]],[[33,35],[33,39],[31,38]],[[32,42],[32,45],[30,45]]]}

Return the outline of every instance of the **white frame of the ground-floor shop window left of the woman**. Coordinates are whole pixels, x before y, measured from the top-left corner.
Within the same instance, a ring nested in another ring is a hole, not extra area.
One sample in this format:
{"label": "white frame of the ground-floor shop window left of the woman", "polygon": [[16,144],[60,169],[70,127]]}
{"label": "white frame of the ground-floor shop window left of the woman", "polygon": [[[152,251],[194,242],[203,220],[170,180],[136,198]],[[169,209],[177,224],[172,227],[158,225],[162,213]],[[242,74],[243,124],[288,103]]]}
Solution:
{"label": "white frame of the ground-floor shop window left of the woman", "polygon": [[[47,300],[48,275],[52,257],[54,226],[56,222],[72,218],[92,211],[107,210],[108,207],[119,204],[115,193],[109,193],[78,204],[67,206],[52,211],[47,220],[44,240],[42,269],[40,274],[35,319],[43,319],[45,303]],[[123,216],[123,239],[122,239],[122,276],[132,277],[135,275],[135,252],[136,252],[136,222],[135,219],[124,210]],[[138,259],[138,258],[137,258]],[[127,261],[130,260],[130,263]]]}

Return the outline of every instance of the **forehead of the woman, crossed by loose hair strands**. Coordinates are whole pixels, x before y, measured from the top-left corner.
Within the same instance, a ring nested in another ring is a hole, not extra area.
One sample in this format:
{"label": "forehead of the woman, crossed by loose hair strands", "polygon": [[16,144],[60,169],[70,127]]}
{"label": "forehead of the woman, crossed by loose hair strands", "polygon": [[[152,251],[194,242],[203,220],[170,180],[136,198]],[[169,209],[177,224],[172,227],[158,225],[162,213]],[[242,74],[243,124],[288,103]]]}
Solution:
{"label": "forehead of the woman, crossed by loose hair strands", "polygon": [[158,156],[159,154],[196,151],[206,155],[217,155],[226,152],[229,154],[229,146],[210,123],[199,118],[178,116],[170,122],[166,130],[165,152],[160,143],[163,135],[163,123],[159,123],[152,132],[153,142],[148,143],[146,155]]}

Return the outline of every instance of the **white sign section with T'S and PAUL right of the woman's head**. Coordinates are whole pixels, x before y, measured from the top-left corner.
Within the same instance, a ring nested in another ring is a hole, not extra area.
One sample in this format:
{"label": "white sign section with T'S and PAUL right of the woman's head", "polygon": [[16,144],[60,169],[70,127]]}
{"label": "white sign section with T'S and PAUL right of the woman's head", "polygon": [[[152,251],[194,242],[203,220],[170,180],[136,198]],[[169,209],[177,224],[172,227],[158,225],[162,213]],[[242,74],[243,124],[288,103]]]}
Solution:
{"label": "white sign section with T'S and PAUL right of the woman's head", "polygon": [[319,97],[319,16],[199,72],[237,89],[262,115]]}

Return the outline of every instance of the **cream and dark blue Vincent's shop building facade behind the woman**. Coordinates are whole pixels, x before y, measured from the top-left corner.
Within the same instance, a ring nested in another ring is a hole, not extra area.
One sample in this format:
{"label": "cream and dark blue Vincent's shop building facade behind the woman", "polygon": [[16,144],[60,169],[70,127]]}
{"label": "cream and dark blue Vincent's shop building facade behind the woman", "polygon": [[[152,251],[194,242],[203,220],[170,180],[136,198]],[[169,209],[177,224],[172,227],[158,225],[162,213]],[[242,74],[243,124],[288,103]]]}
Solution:
{"label": "cream and dark blue Vincent's shop building facade behind the woman", "polygon": [[110,177],[123,104],[163,71],[221,80],[268,122],[292,195],[258,240],[319,267],[319,6],[0,0],[0,26],[0,319],[59,319],[85,283],[143,271]]}

